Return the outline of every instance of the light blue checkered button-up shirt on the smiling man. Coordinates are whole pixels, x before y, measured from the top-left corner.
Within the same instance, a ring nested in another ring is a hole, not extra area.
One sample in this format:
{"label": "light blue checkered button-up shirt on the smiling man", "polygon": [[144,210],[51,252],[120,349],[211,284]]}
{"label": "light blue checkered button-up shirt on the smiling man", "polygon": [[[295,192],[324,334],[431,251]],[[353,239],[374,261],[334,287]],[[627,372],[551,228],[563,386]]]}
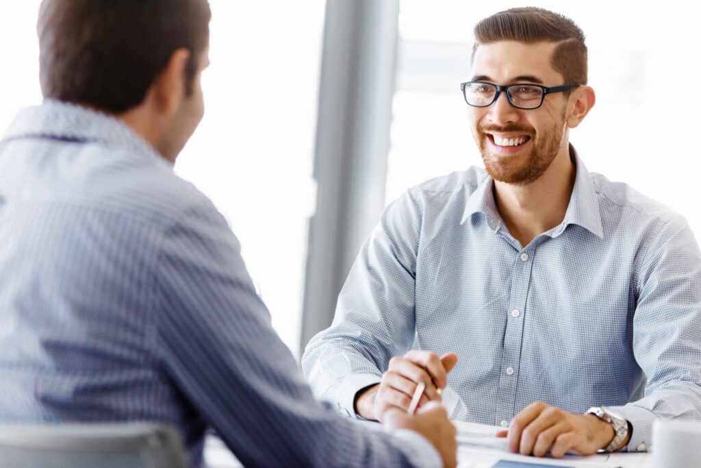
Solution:
{"label": "light blue checkered button-up shirt on the smiling man", "polygon": [[470,168],[409,189],[360,250],[331,328],[302,366],[315,394],[354,415],[416,340],[456,352],[452,417],[506,424],[534,401],[613,406],[646,450],[655,417],[701,419],[701,255],[686,221],[587,171],[564,220],[521,246]]}

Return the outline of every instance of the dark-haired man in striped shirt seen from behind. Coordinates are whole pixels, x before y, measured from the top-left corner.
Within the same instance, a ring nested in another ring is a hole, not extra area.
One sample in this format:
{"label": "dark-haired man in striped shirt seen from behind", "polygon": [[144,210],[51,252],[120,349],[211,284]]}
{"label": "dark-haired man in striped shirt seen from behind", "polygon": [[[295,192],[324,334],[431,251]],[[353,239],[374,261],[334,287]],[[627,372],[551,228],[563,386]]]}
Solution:
{"label": "dark-haired man in striped shirt seen from behind", "polygon": [[203,116],[205,0],[45,0],[43,105],[0,142],[0,421],[149,420],[193,466],[454,466],[439,405],[369,432],[313,398],[215,206],[172,164]]}

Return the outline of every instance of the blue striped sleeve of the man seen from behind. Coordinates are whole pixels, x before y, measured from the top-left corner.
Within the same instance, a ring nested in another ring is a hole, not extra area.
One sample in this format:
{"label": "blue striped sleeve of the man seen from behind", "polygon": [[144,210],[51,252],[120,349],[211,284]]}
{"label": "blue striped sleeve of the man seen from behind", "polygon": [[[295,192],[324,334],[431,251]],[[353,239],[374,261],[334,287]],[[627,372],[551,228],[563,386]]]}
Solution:
{"label": "blue striped sleeve of the man seen from behind", "polygon": [[245,466],[440,466],[419,434],[369,432],[314,399],[211,204],[168,229],[156,285],[163,366]]}

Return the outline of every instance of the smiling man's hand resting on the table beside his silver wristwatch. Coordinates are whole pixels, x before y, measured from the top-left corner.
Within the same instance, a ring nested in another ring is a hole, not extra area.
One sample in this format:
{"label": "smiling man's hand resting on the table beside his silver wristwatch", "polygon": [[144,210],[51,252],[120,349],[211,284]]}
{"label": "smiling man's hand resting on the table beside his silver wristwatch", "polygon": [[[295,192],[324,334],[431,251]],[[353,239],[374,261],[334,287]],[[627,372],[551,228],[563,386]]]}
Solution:
{"label": "smiling man's hand resting on the table beside his silver wristwatch", "polygon": [[[511,420],[508,431],[496,435],[508,439],[512,452],[536,457],[544,457],[550,452],[559,458],[569,449],[591,455],[611,443],[615,433],[611,424],[595,415],[573,415],[536,402]],[[627,443],[627,440],[623,441],[620,446]]]}

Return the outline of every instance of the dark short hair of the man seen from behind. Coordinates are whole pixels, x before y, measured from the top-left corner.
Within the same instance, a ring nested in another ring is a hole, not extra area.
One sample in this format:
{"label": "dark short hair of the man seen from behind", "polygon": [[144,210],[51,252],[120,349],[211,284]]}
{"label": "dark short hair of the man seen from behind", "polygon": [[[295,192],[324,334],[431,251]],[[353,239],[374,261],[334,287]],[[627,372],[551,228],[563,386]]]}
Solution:
{"label": "dark short hair of the man seen from behind", "polygon": [[209,44],[207,0],[43,0],[39,79],[45,98],[106,112],[135,107],[178,48],[188,93]]}

